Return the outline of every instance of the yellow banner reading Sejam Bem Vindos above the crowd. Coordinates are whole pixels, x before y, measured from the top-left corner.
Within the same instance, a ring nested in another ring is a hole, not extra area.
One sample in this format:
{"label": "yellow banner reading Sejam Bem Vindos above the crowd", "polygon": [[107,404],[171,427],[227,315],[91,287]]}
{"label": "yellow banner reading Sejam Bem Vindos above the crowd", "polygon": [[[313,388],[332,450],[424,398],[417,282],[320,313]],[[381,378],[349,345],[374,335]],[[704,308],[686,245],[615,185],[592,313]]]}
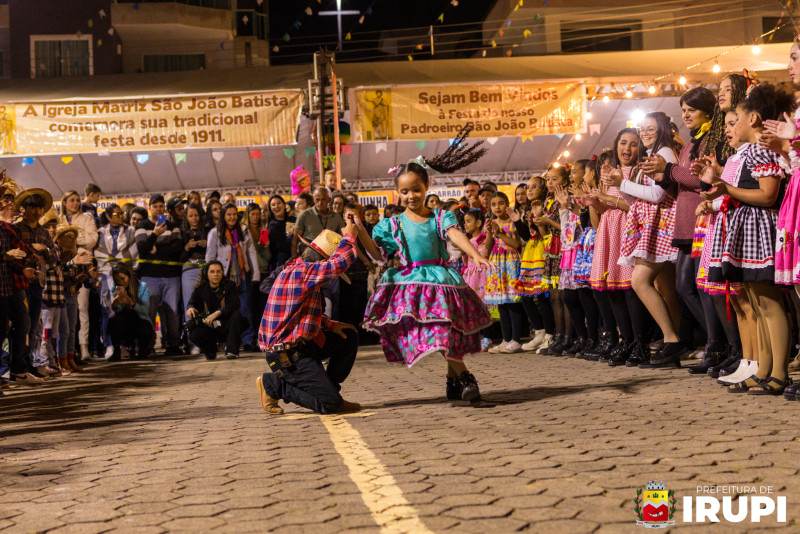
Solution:
{"label": "yellow banner reading Sejam Bem Vindos above the crowd", "polygon": [[582,82],[359,87],[351,93],[356,141],[452,139],[468,122],[473,137],[582,133]]}

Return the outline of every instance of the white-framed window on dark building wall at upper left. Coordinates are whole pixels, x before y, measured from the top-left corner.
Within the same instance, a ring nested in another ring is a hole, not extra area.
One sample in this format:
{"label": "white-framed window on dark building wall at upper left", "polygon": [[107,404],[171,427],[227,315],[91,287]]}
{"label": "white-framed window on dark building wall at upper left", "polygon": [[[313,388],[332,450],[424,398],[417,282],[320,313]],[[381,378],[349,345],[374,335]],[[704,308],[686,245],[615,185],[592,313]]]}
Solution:
{"label": "white-framed window on dark building wall at upper left", "polygon": [[31,77],[91,76],[92,42],[89,36],[32,35]]}

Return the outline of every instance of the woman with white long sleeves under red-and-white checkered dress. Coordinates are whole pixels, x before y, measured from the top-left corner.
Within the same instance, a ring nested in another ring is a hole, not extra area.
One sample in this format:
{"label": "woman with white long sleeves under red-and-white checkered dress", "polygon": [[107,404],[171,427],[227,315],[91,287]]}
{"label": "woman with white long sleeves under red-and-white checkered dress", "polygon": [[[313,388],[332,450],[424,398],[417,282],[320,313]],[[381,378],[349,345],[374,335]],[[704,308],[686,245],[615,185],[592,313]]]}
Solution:
{"label": "woman with white long sleeves under red-and-white checkered dress", "polygon": [[[648,113],[642,121],[641,141],[647,154],[658,154],[677,163],[669,118]],[[675,260],[672,246],[675,200],[656,183],[657,177],[634,169],[628,179],[614,169],[605,169],[603,181],[620,188],[630,209],[622,237],[619,263],[633,265],[631,285],[664,334],[664,347],[650,359],[651,367],[680,367],[686,348],[678,338],[681,306],[675,291]],[[658,288],[656,279],[658,278]]]}

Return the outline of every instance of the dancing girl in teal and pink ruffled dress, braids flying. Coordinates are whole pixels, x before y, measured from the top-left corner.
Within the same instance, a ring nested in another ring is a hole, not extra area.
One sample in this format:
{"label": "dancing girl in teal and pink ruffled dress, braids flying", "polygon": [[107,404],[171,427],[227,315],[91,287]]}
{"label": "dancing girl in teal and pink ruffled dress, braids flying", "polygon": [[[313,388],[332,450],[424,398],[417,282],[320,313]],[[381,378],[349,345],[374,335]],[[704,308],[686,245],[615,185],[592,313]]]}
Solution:
{"label": "dancing girl in teal and pink ruffled dress, braids flying", "polygon": [[429,171],[453,172],[480,158],[480,143],[465,145],[463,130],[441,156],[421,157],[392,169],[400,197],[407,202],[401,215],[384,219],[370,238],[359,226],[359,239],[376,260],[397,254],[400,267],[388,269],[375,288],[363,327],[381,336],[386,359],[411,367],[423,357],[442,353],[447,361],[447,398],[480,399],[475,377],[464,356],[481,351],[482,329],[491,324],[489,312],[461,274],[447,266],[450,240],[484,268],[492,264],[457,227],[455,215],[425,206]]}

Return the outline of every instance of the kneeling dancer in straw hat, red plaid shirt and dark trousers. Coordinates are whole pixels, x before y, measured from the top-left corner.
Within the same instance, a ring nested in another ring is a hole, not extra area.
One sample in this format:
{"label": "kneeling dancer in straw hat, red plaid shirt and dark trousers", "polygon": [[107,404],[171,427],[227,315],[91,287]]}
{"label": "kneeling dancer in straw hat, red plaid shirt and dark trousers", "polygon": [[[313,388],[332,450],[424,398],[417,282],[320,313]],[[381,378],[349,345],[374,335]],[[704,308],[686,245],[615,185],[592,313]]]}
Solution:
{"label": "kneeling dancer in straw hat, red plaid shirt and dark trousers", "polygon": [[[256,380],[261,407],[268,414],[283,413],[280,399],[321,414],[361,409],[339,394],[355,362],[358,333],[322,313],[322,288],[356,258],[354,216],[343,233],[323,230],[307,243],[301,257],[286,264],[272,286],[258,329],[258,343],[267,352],[272,373]],[[326,369],[322,361],[328,358]]]}

